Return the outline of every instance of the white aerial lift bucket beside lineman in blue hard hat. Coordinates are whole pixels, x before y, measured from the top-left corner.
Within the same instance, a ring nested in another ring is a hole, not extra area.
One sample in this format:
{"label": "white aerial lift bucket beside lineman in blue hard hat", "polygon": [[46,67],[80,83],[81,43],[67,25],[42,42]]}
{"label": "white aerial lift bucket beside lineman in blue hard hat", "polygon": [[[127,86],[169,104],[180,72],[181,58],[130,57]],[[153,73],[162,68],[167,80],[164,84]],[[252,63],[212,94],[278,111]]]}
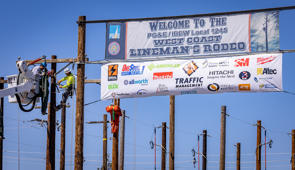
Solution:
{"label": "white aerial lift bucket beside lineman in blue hard hat", "polygon": [[[29,102],[31,102],[32,97],[35,96],[35,94],[31,90],[35,91],[36,94],[39,94],[40,77],[35,76],[33,72],[30,71],[25,61],[17,62],[17,69],[19,71],[22,71],[22,73],[20,75],[15,74],[12,76],[7,76],[8,88],[6,89],[5,93],[8,94],[9,103],[18,103],[17,98],[14,95],[18,94],[20,100],[22,101],[22,104],[28,104]],[[17,85],[18,76],[19,85]],[[35,103],[39,102],[40,97],[37,97]]]}

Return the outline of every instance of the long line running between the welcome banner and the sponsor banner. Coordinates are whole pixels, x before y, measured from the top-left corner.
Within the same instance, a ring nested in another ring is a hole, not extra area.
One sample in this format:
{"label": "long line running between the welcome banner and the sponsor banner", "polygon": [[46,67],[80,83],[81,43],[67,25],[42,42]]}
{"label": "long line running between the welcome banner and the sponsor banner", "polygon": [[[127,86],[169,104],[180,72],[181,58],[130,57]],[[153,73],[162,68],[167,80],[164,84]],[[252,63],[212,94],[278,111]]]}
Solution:
{"label": "long line running between the welcome banner and the sponsor banner", "polygon": [[191,55],[183,57],[163,57],[163,58],[140,58],[140,59],[121,59],[121,60],[100,60],[100,61],[85,61],[77,62],[75,64],[102,64],[102,63],[117,63],[117,62],[143,62],[143,61],[159,61],[159,60],[175,60],[175,59],[192,59],[192,58],[214,58],[214,57],[234,57],[241,55],[255,55],[255,54],[272,54],[272,53],[290,53],[295,52],[293,50],[276,50],[276,51],[258,51],[258,52],[246,52],[246,53],[233,53],[233,54],[218,54],[218,55]]}

